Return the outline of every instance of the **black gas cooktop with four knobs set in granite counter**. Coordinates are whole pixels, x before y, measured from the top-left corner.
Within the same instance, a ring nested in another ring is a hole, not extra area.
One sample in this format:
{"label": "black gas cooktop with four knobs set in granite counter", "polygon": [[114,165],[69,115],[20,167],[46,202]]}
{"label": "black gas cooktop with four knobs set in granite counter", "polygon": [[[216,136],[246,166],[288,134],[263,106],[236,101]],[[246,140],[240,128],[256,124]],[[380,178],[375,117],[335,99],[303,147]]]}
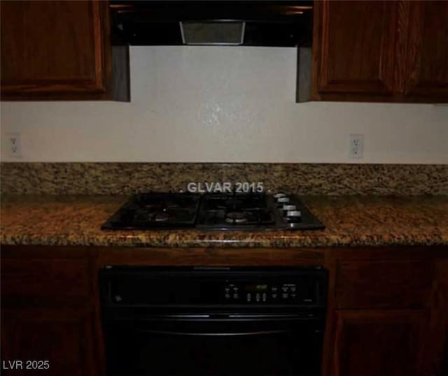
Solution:
{"label": "black gas cooktop with four knobs set in granite counter", "polygon": [[325,226],[293,194],[136,194],[104,230],[321,230]]}

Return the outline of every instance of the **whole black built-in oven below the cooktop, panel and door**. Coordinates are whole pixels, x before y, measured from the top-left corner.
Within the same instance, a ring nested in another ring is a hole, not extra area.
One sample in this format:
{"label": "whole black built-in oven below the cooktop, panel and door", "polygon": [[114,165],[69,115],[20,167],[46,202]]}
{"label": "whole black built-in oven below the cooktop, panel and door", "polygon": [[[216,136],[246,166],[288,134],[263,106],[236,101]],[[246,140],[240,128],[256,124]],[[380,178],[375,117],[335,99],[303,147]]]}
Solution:
{"label": "whole black built-in oven below the cooktop, panel and door", "polygon": [[107,375],[320,375],[327,276],[107,266]]}

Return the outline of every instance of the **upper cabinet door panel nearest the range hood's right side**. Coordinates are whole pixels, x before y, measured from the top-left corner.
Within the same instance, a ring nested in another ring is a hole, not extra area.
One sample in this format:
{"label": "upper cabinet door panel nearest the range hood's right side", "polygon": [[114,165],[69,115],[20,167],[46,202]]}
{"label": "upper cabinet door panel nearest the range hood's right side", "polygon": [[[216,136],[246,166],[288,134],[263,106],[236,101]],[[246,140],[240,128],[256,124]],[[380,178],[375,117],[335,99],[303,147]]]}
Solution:
{"label": "upper cabinet door panel nearest the range hood's right side", "polygon": [[393,94],[397,7],[395,1],[316,1],[318,94]]}

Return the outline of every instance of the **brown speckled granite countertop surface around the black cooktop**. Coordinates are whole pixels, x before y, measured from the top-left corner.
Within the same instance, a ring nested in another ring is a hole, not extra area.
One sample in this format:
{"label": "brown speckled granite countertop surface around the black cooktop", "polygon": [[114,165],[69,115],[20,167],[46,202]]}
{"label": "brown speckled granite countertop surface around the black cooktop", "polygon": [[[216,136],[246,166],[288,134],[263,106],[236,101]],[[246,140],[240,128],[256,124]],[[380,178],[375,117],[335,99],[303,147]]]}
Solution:
{"label": "brown speckled granite countertop surface around the black cooktop", "polygon": [[448,196],[304,196],[325,231],[102,231],[126,196],[3,196],[2,245],[448,245]]}

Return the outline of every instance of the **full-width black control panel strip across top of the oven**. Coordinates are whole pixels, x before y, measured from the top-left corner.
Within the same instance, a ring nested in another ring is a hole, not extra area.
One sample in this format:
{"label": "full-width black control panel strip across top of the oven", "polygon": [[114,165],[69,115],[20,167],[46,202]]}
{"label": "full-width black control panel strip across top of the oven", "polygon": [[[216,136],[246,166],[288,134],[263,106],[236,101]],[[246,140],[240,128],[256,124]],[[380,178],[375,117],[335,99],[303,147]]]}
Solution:
{"label": "full-width black control panel strip across top of the oven", "polygon": [[104,302],[111,306],[297,305],[325,303],[326,271],[302,268],[157,268],[110,266],[100,270]]}

